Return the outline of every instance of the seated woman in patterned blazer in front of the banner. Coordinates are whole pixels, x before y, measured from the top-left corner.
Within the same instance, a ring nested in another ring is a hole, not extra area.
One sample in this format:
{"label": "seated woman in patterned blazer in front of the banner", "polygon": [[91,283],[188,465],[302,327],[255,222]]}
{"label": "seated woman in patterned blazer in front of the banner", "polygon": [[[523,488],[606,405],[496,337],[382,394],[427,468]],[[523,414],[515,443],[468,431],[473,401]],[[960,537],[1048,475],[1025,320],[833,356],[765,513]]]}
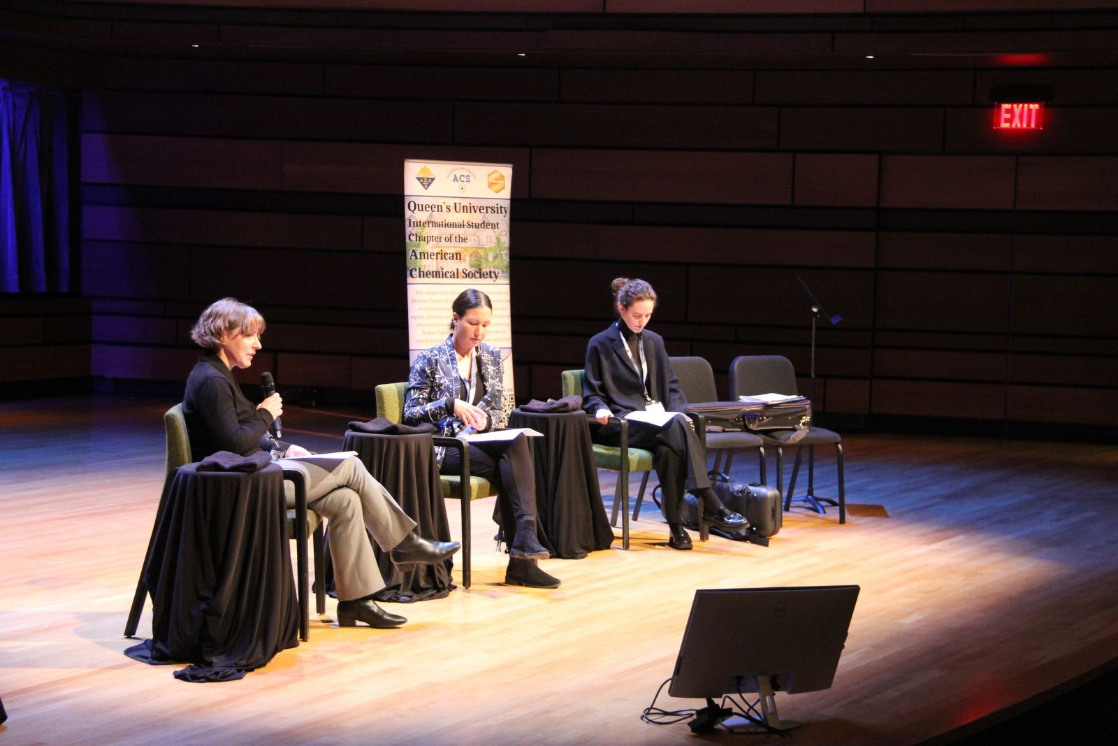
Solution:
{"label": "seated woman in patterned blazer in front of the banner", "polygon": [[[464,290],[451,306],[451,333],[424,350],[411,365],[404,402],[408,425],[433,423],[443,435],[484,433],[505,425],[502,408],[504,369],[500,348],[485,344],[493,321],[493,303],[480,290]],[[459,473],[459,454],[436,448],[439,471]],[[470,445],[470,473],[487,476],[498,487],[501,532],[509,547],[504,582],[534,588],[553,588],[559,578],[548,575],[536,560],[550,553],[537,537],[536,472],[521,433],[511,441]]]}

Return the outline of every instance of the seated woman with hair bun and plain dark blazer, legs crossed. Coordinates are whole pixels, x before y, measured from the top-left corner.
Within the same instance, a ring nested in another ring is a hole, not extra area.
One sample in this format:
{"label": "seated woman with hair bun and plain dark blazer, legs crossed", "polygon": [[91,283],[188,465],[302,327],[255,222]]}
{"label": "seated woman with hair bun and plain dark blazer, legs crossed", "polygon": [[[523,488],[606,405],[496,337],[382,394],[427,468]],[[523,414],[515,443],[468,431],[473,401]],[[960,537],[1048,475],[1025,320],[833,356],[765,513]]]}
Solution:
{"label": "seated woman with hair bun and plain dark blazer, legs crossed", "polygon": [[[610,416],[684,412],[688,400],[667,360],[664,339],[646,329],[656,308],[656,291],[644,280],[628,277],[614,280],[612,291],[617,321],[586,347],[582,408],[605,425],[595,440],[616,445],[620,431],[607,425]],[[707,451],[686,419],[675,416],[663,426],[631,419],[628,432],[629,445],[653,452],[670,529],[667,546],[691,548],[680,518],[684,491],[699,499],[707,521],[726,531],[745,528],[746,519],[723,507],[711,489]]]}

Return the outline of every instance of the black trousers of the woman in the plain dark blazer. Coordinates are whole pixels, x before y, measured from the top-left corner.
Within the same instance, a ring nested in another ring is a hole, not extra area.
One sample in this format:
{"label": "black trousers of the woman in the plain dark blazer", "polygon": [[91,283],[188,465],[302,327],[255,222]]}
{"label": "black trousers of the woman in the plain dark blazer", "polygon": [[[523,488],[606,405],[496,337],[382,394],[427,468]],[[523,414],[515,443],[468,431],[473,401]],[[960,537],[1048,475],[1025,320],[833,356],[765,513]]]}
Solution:
{"label": "black trousers of the woman in the plain dark blazer", "polygon": [[[699,497],[707,512],[722,507],[710,489],[707,476],[707,448],[683,417],[672,417],[663,427],[631,419],[629,445],[652,451],[656,476],[660,479],[661,504],[664,520],[680,522],[683,495],[690,492]],[[596,437],[599,443],[617,445],[620,431],[614,425],[603,427]]]}

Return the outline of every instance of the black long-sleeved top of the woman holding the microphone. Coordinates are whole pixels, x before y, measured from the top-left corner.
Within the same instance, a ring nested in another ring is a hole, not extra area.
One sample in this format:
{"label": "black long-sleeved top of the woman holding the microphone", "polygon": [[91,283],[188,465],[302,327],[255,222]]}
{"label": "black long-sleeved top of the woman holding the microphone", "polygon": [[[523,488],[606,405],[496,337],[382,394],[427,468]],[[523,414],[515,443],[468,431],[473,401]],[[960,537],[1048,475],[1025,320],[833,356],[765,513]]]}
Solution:
{"label": "black long-sleeved top of the woman holding the microphone", "polygon": [[245,398],[233,371],[212,352],[202,355],[187,378],[182,414],[195,461],[218,451],[247,456],[274,444],[284,447],[268,433],[272,413]]}

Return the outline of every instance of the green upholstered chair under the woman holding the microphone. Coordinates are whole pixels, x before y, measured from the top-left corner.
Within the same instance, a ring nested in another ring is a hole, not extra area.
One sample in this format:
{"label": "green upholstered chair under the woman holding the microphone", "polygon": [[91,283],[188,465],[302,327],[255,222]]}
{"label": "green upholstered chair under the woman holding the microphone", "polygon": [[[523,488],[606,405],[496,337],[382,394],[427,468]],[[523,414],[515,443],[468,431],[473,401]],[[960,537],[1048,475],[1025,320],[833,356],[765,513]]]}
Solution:
{"label": "green upholstered chair under the woman holding the microphone", "polygon": [[[151,555],[151,547],[155,540],[155,530],[163,518],[163,510],[167,507],[167,494],[174,479],[174,473],[179,466],[184,466],[193,461],[190,453],[190,436],[187,434],[187,419],[182,414],[182,405],[177,404],[163,413],[163,428],[167,433],[167,454],[164,460],[163,494],[159,499],[159,508],[155,510],[155,523],[152,526],[151,538],[148,540],[148,551],[144,554],[144,565]],[[287,511],[287,538],[297,539],[297,580],[299,580],[299,610],[301,614],[299,623],[299,636],[306,640],[310,636],[310,594],[306,559],[306,539],[310,531],[314,532],[314,577],[315,577],[315,608],[319,614],[326,613],[326,594],[322,584],[325,573],[325,554],[323,553],[322,519],[313,510],[306,508],[306,491],[303,487],[302,474],[299,472],[284,472],[284,479],[291,480],[295,484],[295,508]],[[143,582],[143,567],[140,568],[140,579],[136,583],[135,596],[132,598],[132,611],[129,612],[129,621],[124,626],[124,636],[131,638],[136,632],[140,624],[140,614],[143,612],[143,604],[148,596],[148,586]]]}

